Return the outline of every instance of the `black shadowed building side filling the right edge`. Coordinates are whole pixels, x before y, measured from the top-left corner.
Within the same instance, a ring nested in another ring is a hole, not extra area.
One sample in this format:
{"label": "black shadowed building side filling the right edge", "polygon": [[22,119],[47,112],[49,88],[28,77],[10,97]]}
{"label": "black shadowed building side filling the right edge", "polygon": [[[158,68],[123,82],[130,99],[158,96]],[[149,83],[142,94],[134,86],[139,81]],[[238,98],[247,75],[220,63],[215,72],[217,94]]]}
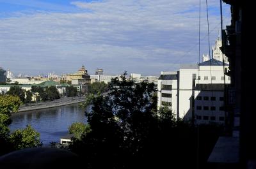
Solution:
{"label": "black shadowed building side filling the right edge", "polygon": [[231,77],[231,84],[226,89],[225,100],[229,138],[222,137],[216,143],[210,157],[211,168],[256,168],[255,84],[252,82],[255,7],[248,1],[223,2],[230,4],[231,11],[231,24],[222,30],[221,47],[230,63],[230,71],[226,73]]}

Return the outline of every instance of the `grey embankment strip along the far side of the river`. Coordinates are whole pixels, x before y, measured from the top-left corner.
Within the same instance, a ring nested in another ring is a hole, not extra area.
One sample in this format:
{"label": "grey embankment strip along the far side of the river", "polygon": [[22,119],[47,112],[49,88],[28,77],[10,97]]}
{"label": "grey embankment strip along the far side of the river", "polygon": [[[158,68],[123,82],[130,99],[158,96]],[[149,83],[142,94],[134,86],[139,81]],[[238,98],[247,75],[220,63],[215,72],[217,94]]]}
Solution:
{"label": "grey embankment strip along the far side of the river", "polygon": [[75,103],[81,103],[85,99],[85,96],[77,96],[72,98],[60,98],[52,101],[44,101],[40,103],[31,103],[29,105],[22,105],[18,112],[27,112],[31,110],[40,110],[52,107],[61,107],[65,105],[72,105]]}

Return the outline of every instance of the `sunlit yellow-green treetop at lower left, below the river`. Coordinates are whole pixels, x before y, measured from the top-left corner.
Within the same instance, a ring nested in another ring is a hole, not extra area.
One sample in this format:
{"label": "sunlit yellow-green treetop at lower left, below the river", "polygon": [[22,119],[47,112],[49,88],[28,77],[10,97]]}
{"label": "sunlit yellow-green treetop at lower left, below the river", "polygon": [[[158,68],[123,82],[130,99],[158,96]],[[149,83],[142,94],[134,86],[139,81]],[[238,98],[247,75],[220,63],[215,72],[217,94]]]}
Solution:
{"label": "sunlit yellow-green treetop at lower left, below the river", "polygon": [[10,135],[10,142],[16,150],[41,147],[40,133],[36,132],[30,125],[24,129],[17,129]]}

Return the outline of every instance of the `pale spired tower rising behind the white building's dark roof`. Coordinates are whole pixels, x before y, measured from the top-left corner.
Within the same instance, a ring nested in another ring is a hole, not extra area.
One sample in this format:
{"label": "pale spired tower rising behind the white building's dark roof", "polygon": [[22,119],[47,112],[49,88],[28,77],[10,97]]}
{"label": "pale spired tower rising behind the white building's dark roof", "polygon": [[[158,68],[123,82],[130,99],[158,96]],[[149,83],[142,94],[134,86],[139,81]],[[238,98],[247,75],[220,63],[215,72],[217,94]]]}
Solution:
{"label": "pale spired tower rising behind the white building's dark roof", "polygon": [[[220,31],[219,31],[219,36],[215,41],[215,45],[212,46],[212,58],[222,62],[223,57],[222,57],[222,52],[220,50],[221,46],[222,46],[222,41],[220,38]],[[224,62],[228,64],[228,58],[226,57],[226,55],[224,55]]]}

